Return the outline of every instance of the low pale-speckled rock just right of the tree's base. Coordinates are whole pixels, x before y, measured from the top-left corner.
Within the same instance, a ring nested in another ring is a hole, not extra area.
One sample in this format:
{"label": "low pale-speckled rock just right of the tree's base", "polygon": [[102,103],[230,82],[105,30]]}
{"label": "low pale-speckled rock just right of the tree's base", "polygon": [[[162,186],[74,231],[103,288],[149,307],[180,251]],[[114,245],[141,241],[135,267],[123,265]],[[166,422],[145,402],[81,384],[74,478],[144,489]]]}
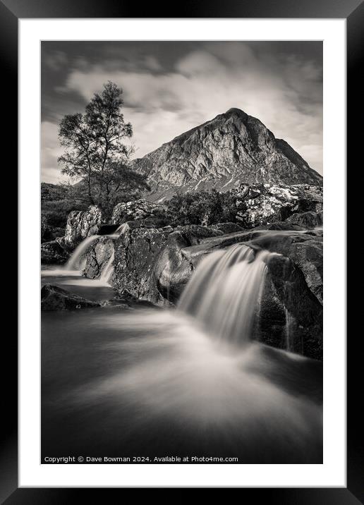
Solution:
{"label": "low pale-speckled rock just right of the tree's base", "polygon": [[[111,222],[113,224],[123,224],[126,221],[134,221],[147,218],[159,219],[159,221],[161,221],[163,218],[165,218],[164,206],[157,203],[148,202],[147,200],[143,199],[133,200],[131,202],[121,202],[114,207],[112,211]],[[152,221],[150,221],[150,223],[151,222]],[[164,224],[168,223],[163,222],[162,226],[164,226]]]}

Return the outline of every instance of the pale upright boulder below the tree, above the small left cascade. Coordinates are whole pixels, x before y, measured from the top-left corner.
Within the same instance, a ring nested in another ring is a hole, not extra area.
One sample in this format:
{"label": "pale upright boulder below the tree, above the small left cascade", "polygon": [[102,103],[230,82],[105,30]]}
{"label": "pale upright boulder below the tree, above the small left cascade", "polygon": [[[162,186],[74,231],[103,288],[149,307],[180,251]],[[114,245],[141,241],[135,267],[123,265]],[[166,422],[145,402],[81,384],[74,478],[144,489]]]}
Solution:
{"label": "pale upright boulder below the tree, above the small left cascade", "polygon": [[91,205],[87,210],[73,210],[68,214],[65,241],[70,247],[75,248],[84,238],[95,234],[93,226],[102,223],[102,212],[96,205]]}

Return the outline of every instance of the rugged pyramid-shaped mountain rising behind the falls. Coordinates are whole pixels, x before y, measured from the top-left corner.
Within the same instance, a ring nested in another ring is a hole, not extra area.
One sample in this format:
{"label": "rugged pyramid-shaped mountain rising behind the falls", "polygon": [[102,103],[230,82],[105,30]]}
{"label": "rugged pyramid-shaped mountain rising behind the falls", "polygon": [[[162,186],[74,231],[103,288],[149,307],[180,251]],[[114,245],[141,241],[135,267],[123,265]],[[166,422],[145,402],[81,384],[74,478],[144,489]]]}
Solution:
{"label": "rugged pyramid-shaped mountain rising behind the falls", "polygon": [[131,168],[147,176],[153,201],[176,190],[226,191],[241,183],[322,185],[322,176],[298,152],[240,109],[182,133],[133,160]]}

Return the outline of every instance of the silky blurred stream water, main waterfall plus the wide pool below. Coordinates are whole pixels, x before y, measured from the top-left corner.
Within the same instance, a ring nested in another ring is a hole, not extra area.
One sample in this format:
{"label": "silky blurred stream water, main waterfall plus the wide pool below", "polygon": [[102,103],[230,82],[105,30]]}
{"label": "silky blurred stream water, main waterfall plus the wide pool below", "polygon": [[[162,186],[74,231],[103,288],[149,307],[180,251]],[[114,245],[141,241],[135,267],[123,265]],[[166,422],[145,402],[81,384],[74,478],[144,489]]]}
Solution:
{"label": "silky blurred stream water, main waterfall plus the wide pool below", "polygon": [[321,363],[251,341],[269,255],[211,253],[176,310],[43,312],[43,456],[322,462]]}

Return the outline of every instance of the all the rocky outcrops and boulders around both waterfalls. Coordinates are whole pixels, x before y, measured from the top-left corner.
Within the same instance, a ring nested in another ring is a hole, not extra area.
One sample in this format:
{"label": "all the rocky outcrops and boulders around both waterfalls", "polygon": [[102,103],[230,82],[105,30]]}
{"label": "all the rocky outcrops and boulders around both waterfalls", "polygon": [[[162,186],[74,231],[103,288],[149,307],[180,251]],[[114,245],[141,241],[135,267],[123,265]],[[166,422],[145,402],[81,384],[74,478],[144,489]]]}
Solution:
{"label": "all the rocky outcrops and boulders around both waterfalls", "polygon": [[[241,185],[235,222],[180,226],[162,204],[136,200],[116,205],[109,225],[97,207],[71,212],[66,234],[42,244],[42,262],[62,264],[94,236],[83,276],[108,284],[117,298],[173,307],[201,260],[244,243],[277,256],[267,264],[260,322],[254,339],[322,359],[322,188]],[[123,231],[113,235],[121,224]],[[288,323],[289,321],[289,323]]]}

